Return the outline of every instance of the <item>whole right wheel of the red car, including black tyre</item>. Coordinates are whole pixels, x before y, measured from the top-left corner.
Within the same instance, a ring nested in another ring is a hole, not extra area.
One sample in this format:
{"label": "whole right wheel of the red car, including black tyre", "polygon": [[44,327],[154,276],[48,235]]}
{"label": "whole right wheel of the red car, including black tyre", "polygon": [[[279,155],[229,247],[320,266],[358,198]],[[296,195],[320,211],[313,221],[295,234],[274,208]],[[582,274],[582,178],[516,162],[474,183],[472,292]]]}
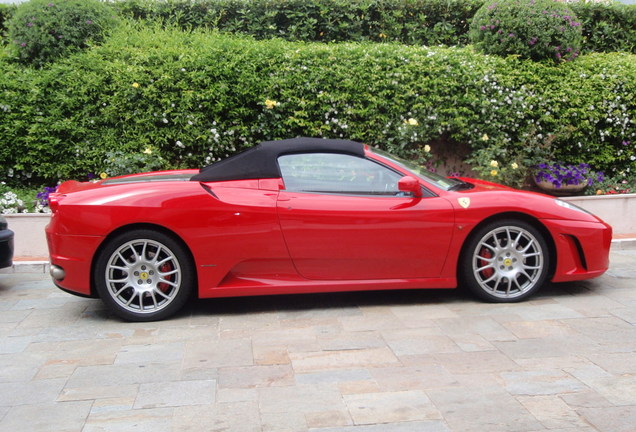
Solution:
{"label": "whole right wheel of the red car, including black tyre", "polygon": [[464,245],[460,281],[477,297],[495,303],[524,300],[544,284],[550,251],[543,234],[516,219],[478,228]]}

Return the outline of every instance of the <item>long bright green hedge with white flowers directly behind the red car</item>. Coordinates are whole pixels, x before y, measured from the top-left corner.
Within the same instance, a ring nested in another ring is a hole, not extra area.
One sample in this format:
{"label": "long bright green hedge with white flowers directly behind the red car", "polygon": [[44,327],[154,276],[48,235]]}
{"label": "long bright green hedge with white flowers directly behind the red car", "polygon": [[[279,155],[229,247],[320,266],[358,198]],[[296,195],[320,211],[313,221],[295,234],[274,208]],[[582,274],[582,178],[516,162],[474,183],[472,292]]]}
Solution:
{"label": "long bright green hedge with white flowers directly behind the red car", "polygon": [[108,152],[197,167],[298,135],[403,154],[425,144],[551,145],[563,162],[636,169],[631,54],[555,67],[470,48],[124,26],[103,46],[40,70],[0,59],[0,76],[0,181],[11,184],[108,172]]}

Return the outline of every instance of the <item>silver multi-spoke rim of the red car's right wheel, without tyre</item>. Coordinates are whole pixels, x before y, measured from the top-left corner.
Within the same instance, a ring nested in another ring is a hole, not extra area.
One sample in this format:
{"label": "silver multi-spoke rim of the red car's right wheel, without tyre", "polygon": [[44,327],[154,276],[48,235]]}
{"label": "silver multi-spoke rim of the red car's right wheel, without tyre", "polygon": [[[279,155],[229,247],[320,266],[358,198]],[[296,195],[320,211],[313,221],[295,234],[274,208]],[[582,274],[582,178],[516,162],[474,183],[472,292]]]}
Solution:
{"label": "silver multi-spoke rim of the red car's right wheel, without tyre", "polygon": [[513,299],[533,289],[542,279],[544,253],[528,230],[501,226],[477,243],[471,259],[473,275],[487,294]]}

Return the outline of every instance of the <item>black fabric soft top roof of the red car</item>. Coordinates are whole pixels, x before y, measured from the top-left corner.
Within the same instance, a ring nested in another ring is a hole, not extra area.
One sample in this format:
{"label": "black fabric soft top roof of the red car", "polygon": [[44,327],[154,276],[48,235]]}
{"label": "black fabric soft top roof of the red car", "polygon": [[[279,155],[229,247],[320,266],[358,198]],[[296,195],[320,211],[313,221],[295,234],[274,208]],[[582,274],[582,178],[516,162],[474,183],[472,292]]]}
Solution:
{"label": "black fabric soft top roof of the red car", "polygon": [[294,153],[343,153],[364,157],[364,145],[355,141],[292,138],[265,141],[244,152],[201,168],[191,180],[200,182],[281,177],[278,157]]}

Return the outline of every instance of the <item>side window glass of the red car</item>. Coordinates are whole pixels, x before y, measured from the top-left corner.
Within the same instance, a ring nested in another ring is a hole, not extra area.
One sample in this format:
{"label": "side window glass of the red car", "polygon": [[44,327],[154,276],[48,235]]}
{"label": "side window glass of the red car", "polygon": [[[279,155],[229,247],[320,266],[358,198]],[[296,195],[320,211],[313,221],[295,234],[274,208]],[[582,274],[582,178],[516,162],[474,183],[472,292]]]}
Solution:
{"label": "side window glass of the red car", "polygon": [[336,153],[283,155],[278,158],[285,189],[296,192],[400,195],[401,174],[369,159]]}

